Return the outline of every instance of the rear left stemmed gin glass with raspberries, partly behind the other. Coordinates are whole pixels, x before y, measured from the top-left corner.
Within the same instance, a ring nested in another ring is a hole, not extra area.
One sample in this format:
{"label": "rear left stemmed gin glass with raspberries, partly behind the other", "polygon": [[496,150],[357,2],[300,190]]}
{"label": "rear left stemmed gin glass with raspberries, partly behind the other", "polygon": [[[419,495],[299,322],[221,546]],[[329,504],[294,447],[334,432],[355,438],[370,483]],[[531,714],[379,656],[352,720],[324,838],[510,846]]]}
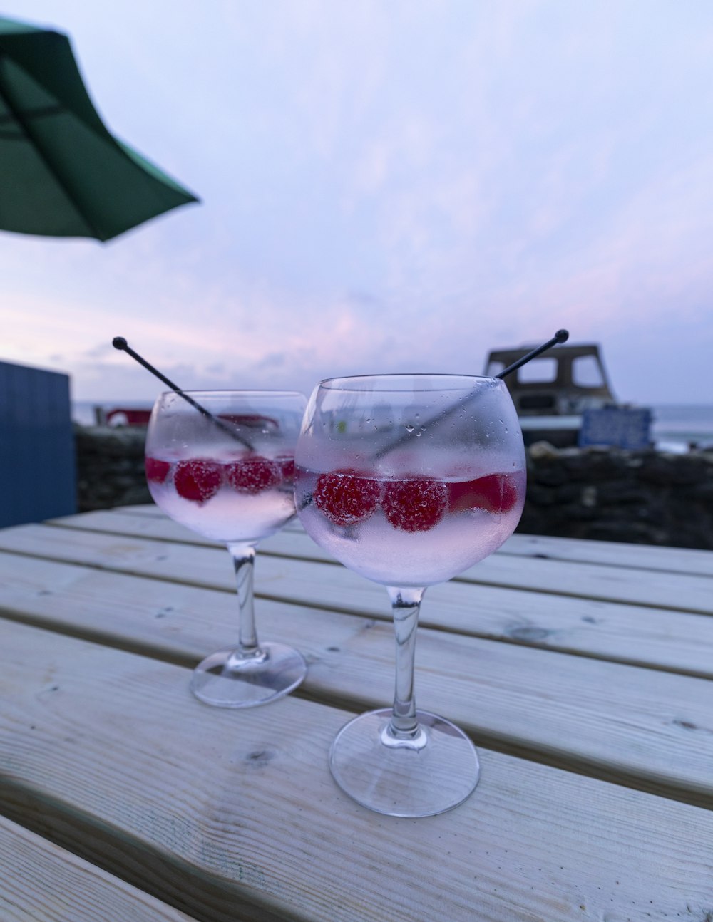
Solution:
{"label": "rear left stemmed gin glass with raspberries, partly behind the other", "polygon": [[231,553],[240,612],[238,644],[194,670],[191,690],[220,707],[273,701],[303,680],[303,656],[257,642],[255,547],[294,515],[294,446],[306,400],[289,391],[169,391],[146,439],[149,491],[164,513]]}

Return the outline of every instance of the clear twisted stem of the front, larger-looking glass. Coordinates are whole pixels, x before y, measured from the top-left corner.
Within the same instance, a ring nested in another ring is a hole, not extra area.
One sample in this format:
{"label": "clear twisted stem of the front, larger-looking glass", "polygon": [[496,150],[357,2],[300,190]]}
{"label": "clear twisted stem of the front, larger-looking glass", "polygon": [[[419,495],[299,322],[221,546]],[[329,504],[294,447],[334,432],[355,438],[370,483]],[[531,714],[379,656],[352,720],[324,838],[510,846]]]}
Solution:
{"label": "clear twisted stem of the front, larger-looking glass", "polygon": [[396,691],[394,710],[388,726],[393,739],[413,739],[419,733],[416,698],[413,693],[413,664],[416,653],[416,628],[425,588],[399,589],[387,586],[396,631]]}

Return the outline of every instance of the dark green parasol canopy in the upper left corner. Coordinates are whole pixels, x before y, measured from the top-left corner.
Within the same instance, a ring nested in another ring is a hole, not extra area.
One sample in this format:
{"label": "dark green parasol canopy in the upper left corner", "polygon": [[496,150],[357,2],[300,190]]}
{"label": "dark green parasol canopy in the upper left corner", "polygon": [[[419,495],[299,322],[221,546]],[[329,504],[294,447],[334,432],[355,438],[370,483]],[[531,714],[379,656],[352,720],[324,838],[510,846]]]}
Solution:
{"label": "dark green parasol canopy in the upper left corner", "polygon": [[0,229],[105,241],[197,201],[106,129],[65,35],[0,18]]}

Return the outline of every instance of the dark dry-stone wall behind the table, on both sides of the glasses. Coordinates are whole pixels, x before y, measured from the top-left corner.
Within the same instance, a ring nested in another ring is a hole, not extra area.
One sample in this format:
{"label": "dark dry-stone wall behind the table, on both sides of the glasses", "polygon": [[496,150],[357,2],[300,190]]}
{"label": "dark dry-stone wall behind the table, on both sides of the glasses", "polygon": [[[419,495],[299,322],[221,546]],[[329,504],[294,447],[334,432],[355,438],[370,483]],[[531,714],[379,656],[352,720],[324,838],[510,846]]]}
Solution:
{"label": "dark dry-stone wall behind the table, on both sides of the glasses", "polygon": [[[79,427],[80,512],[151,502],[145,429]],[[713,452],[670,455],[531,445],[528,498],[517,529],[713,550]]]}

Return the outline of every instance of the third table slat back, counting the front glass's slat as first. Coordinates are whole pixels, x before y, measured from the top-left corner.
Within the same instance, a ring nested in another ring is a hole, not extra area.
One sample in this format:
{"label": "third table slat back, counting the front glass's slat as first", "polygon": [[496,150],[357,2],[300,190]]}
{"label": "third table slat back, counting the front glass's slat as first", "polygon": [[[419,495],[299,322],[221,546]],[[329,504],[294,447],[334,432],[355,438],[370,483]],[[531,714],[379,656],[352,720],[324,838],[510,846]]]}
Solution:
{"label": "third table slat back, counting the front glass's slat as first", "polygon": [[[219,546],[196,548],[161,544],[101,534],[92,540],[84,535],[33,526],[33,534],[46,542],[54,557],[77,565],[89,563],[118,573],[143,573],[149,577],[194,583],[234,592],[232,567]],[[26,537],[25,532],[20,533]],[[64,538],[64,540],[63,540]],[[78,538],[73,540],[73,538]],[[12,542],[7,541],[9,546]],[[38,550],[25,540],[24,547]],[[88,550],[89,549],[89,550]],[[38,561],[33,566],[30,562]],[[46,557],[0,556],[0,573],[14,585],[17,572],[42,580]],[[306,606],[331,606],[335,610],[390,620],[384,589],[345,570],[319,568],[310,561],[270,558],[258,553],[256,593]],[[432,586],[422,607],[423,626],[444,628],[493,640],[504,640],[556,649],[583,656],[597,656],[637,665],[710,676],[713,670],[713,624],[707,617],[666,609],[600,602],[579,597],[548,596],[488,585],[451,581]]]}

